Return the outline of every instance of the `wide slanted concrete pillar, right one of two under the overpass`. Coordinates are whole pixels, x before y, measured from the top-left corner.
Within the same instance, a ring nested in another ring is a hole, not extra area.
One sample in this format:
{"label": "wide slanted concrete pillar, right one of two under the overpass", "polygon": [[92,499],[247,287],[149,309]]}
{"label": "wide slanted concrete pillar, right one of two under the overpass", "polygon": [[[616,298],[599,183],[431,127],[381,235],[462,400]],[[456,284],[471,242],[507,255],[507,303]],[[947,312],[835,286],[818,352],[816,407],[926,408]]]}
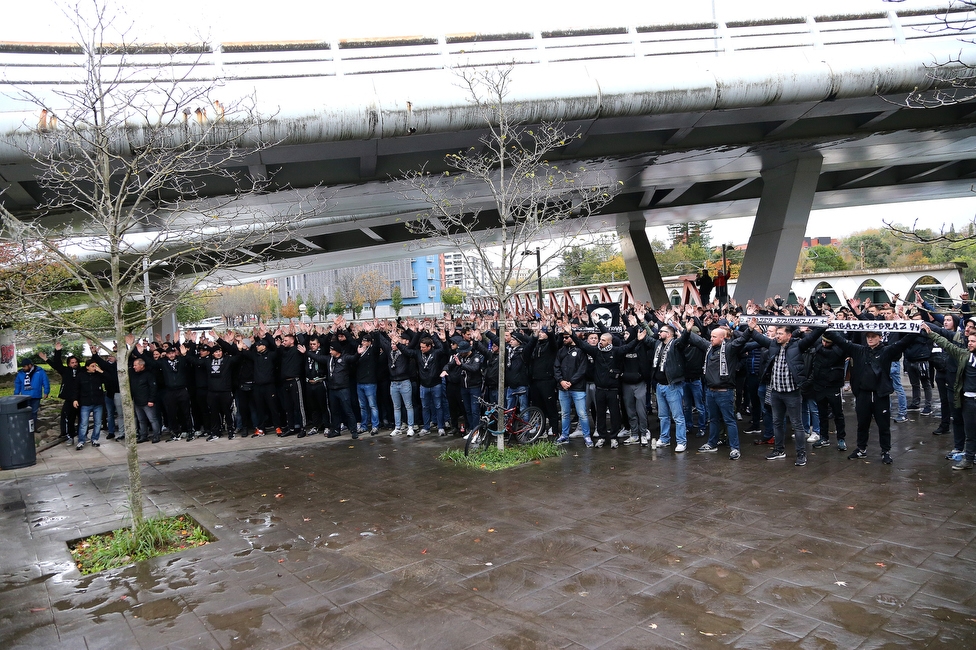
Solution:
{"label": "wide slanted concrete pillar, right one of two under the overpass", "polygon": [[813,154],[763,170],[763,193],[735,286],[740,305],[789,295],[822,165],[823,157]]}

